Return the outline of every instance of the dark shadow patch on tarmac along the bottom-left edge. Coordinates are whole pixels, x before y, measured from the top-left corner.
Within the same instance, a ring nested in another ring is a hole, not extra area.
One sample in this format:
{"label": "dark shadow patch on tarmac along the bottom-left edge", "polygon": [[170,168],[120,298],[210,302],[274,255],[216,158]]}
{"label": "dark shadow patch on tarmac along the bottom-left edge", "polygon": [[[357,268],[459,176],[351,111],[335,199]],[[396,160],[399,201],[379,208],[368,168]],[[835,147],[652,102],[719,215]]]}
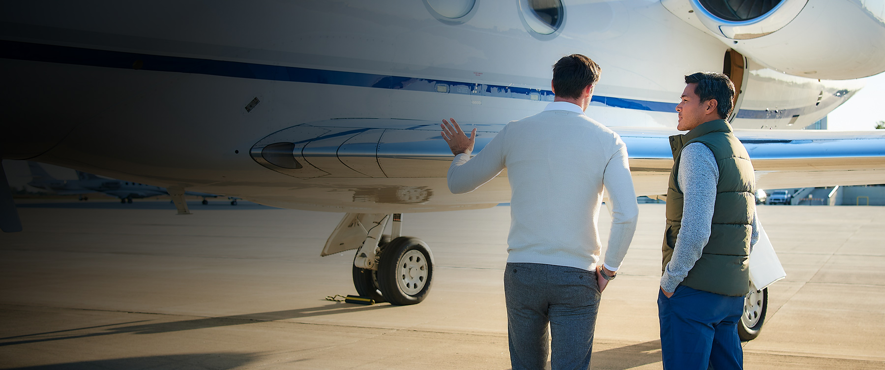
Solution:
{"label": "dark shadow patch on tarmac along the bottom-left edge", "polygon": [[232,369],[249,364],[258,356],[246,353],[192,353],[188,355],[113,358],[65,364],[12,367],[16,370],[93,370],[93,369]]}

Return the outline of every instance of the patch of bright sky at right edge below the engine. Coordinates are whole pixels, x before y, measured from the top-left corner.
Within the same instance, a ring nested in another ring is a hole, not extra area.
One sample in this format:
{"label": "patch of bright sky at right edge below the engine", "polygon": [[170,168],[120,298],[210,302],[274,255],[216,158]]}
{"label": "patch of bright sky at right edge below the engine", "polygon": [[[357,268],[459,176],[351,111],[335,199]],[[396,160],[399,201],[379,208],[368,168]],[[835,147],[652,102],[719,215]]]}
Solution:
{"label": "patch of bright sky at right edge below the engine", "polygon": [[860,79],[866,87],[827,115],[827,128],[838,131],[873,130],[885,120],[885,73]]}

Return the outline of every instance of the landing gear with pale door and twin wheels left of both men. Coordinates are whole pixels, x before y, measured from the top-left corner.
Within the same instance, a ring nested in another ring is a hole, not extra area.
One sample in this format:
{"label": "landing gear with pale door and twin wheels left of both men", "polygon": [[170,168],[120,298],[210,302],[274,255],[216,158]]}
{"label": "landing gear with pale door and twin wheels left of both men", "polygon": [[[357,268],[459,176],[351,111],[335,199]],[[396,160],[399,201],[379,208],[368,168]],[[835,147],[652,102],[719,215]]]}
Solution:
{"label": "landing gear with pale door and twin wheels left of both men", "polygon": [[[384,228],[392,223],[390,235]],[[399,213],[348,213],[329,236],[322,256],[356,248],[353,286],[375,302],[417,304],[427,297],[434,256],[424,241],[401,236]]]}

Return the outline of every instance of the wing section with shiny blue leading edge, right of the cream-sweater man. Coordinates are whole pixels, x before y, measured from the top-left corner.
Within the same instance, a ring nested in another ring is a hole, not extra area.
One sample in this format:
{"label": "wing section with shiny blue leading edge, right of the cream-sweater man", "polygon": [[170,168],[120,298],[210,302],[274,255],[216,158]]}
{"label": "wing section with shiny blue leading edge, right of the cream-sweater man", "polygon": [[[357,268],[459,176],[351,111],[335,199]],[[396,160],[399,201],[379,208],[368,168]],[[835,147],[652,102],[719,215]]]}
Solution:
{"label": "wing section with shiny blue leading edge, right of the cream-sweater man", "polygon": [[[627,143],[637,195],[666,194],[673,129],[612,127]],[[757,189],[885,183],[885,132],[736,129]]]}

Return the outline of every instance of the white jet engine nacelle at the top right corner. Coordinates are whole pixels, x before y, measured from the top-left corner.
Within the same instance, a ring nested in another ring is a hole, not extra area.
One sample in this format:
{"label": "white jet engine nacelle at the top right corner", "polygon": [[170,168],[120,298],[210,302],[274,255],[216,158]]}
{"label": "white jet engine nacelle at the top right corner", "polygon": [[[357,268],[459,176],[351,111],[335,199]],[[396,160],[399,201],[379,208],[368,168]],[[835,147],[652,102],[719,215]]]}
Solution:
{"label": "white jet engine nacelle at the top right corner", "polygon": [[885,0],[663,0],[667,10],[777,71],[847,80],[885,71]]}

